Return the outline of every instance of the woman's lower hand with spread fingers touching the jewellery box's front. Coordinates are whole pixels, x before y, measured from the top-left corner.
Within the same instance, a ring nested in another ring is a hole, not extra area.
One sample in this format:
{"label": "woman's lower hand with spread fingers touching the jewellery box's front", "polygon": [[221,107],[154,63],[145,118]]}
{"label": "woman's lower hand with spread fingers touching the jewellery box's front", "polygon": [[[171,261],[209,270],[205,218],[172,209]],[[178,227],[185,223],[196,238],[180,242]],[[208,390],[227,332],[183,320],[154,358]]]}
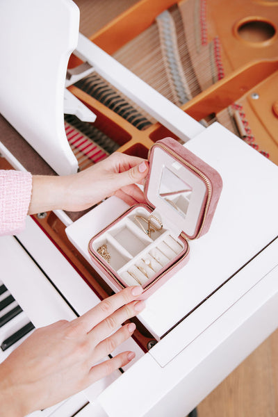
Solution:
{"label": "woman's lower hand with spread fingers touching the jewellery box's front", "polygon": [[99,361],[133,334],[133,323],[118,327],[144,308],[134,301],[140,293],[140,286],[126,288],[72,322],[36,329],[0,366],[1,413],[44,409],[129,363],[133,352]]}

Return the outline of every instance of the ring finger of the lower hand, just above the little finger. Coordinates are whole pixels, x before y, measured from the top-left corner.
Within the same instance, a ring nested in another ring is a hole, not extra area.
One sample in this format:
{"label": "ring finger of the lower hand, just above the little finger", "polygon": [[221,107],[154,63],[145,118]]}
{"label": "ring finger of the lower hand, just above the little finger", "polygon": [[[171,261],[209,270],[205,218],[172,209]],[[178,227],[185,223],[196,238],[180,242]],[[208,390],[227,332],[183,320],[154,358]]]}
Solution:
{"label": "ring finger of the lower hand, just above the little finger", "polygon": [[121,345],[121,343],[126,341],[133,334],[135,329],[136,325],[134,323],[129,323],[128,325],[121,326],[117,332],[101,341],[94,349],[92,357],[93,363],[99,362],[108,354],[111,354],[119,345]]}

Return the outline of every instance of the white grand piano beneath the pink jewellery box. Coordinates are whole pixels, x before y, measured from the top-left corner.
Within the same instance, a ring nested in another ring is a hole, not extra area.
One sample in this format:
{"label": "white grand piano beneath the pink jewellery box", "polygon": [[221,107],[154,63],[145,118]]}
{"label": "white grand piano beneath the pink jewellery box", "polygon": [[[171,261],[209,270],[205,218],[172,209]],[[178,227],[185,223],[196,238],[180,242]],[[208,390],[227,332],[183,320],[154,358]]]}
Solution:
{"label": "white grand piano beneath the pink jewellery box", "polygon": [[[79,34],[79,10],[71,0],[36,5],[1,3],[0,111],[54,171],[68,174],[78,165],[65,136],[63,102],[65,113],[95,120],[65,92],[74,51],[218,170],[223,190],[210,231],[190,242],[188,264],[138,316],[157,343],[145,351],[136,340],[126,341],[136,352],[129,366],[32,416],[184,417],[277,328],[278,167],[220,124],[205,129]],[[2,141],[0,151],[15,169],[26,169]],[[113,215],[122,213],[125,204],[111,198]],[[88,263],[88,240],[113,220],[109,204],[74,222],[56,213]],[[103,221],[96,222],[99,211]],[[30,322],[40,327],[71,320],[99,302],[32,218],[19,236],[0,238],[0,253],[0,345],[9,346],[1,361],[32,331]],[[17,340],[22,329],[26,334]]]}

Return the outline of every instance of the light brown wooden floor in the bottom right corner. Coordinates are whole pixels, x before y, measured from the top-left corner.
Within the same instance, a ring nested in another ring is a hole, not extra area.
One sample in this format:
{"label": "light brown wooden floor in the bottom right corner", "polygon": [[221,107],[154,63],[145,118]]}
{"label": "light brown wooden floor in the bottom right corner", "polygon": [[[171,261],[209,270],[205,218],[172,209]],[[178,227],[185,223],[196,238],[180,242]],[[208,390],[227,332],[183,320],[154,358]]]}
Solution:
{"label": "light brown wooden floor in the bottom right corner", "polygon": [[198,417],[278,416],[278,329],[197,407]]}

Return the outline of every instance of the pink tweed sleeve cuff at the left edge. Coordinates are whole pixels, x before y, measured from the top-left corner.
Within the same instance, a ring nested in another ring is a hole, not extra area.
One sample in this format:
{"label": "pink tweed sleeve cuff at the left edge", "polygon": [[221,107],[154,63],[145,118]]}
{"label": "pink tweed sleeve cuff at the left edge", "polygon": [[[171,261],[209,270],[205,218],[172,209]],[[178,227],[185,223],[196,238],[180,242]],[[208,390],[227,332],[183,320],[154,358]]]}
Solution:
{"label": "pink tweed sleeve cuff at the left edge", "polygon": [[31,193],[29,172],[0,170],[0,236],[24,229]]}

